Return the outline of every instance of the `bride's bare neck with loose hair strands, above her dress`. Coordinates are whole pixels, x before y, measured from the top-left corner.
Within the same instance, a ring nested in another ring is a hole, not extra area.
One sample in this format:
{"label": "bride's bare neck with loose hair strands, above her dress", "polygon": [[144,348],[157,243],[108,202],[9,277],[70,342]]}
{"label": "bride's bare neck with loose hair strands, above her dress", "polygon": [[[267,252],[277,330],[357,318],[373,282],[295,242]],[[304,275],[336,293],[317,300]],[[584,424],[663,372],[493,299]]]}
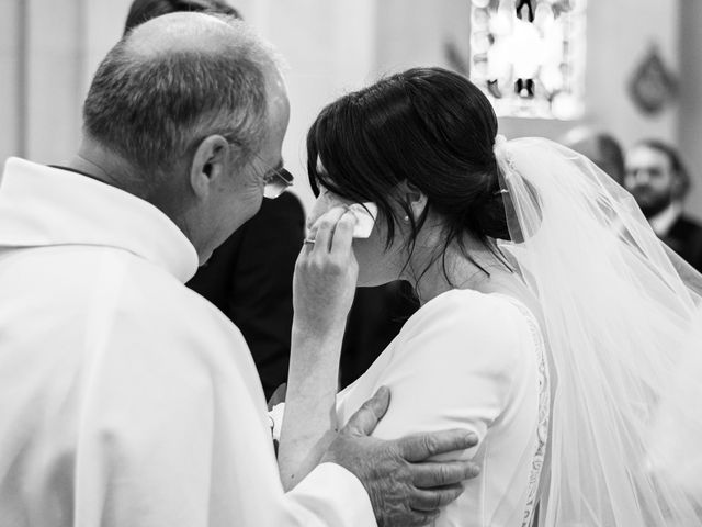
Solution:
{"label": "bride's bare neck with loose hair strands, above her dress", "polygon": [[410,258],[407,278],[417,283],[422,304],[452,289],[519,295],[519,277],[482,242],[466,237],[465,251],[453,242],[443,256],[437,249],[442,246],[441,239],[426,240]]}

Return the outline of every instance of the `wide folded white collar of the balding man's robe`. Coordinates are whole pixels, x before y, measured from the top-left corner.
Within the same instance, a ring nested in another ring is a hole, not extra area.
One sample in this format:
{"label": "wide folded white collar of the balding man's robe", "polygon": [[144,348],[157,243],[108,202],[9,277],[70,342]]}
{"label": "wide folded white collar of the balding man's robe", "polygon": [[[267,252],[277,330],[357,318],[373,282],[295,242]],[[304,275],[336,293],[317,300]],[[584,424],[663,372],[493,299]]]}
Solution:
{"label": "wide folded white collar of the balding man's robe", "polygon": [[100,245],[128,250],[188,281],[195,248],[145,200],[79,173],[8,159],[0,186],[0,247]]}

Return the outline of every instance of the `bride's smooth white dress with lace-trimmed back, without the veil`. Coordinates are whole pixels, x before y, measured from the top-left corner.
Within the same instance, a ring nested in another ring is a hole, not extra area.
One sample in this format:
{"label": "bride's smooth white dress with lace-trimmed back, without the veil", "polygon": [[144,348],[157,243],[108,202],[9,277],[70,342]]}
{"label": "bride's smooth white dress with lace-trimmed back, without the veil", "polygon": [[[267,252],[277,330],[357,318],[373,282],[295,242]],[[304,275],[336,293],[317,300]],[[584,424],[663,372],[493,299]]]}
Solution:
{"label": "bride's smooth white dress with lace-trimmed back, without the veil", "polygon": [[[463,428],[479,438],[460,459],[472,458],[480,475],[464,482],[464,493],[432,525],[530,525],[545,455],[550,392],[543,338],[523,304],[471,290],[432,299],[369,370],[338,394],[339,423],[346,424],[382,385],[390,389],[390,405],[373,436],[396,439]],[[276,433],[283,414],[284,405],[271,413]]]}

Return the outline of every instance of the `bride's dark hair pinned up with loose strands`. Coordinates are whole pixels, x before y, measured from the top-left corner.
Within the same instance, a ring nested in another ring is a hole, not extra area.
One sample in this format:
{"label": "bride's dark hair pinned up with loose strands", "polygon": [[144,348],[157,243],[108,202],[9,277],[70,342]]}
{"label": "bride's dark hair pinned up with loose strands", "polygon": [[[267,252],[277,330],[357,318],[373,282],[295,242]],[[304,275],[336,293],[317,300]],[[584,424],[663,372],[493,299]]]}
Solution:
{"label": "bride's dark hair pinned up with loose strands", "polygon": [[[496,135],[495,111],[468,79],[442,68],[409,69],[321,111],[307,134],[309,183],[315,194],[321,183],[344,199],[376,203],[387,223],[386,249],[399,221],[390,204],[393,189],[400,181],[414,184],[428,198],[420,217],[415,220],[410,204],[395,198],[410,218],[408,251],[429,210],[434,211],[446,231],[443,249],[432,261],[444,258],[446,274],[445,251],[453,240],[469,258],[463,234],[491,250],[488,238],[509,239]],[[317,170],[317,159],[324,172]]]}

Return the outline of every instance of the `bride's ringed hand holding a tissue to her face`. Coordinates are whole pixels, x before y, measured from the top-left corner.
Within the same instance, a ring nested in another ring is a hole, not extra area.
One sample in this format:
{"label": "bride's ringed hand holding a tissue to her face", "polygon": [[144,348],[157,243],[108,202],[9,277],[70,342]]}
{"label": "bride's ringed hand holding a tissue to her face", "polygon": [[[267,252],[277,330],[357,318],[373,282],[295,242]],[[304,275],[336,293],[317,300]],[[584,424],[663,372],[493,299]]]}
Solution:
{"label": "bride's ringed hand holding a tissue to her face", "polygon": [[305,243],[293,278],[297,330],[318,337],[343,332],[359,273],[351,247],[355,222],[348,209],[335,208],[313,226],[315,243]]}

